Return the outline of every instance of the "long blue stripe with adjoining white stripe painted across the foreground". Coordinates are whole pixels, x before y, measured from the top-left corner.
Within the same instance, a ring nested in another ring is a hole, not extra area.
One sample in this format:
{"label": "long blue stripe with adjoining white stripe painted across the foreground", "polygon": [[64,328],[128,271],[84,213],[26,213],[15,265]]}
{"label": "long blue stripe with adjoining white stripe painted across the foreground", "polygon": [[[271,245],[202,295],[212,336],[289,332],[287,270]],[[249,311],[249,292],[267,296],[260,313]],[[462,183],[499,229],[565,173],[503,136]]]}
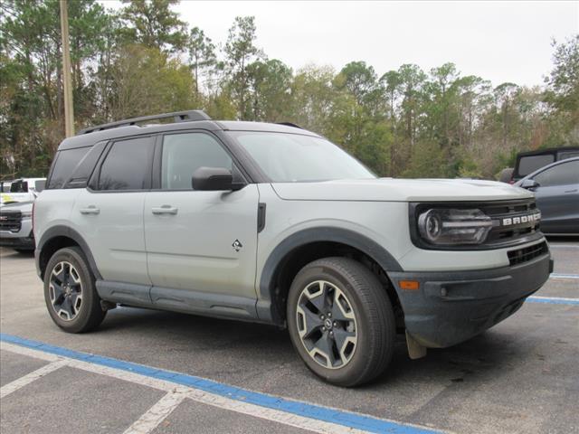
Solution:
{"label": "long blue stripe with adjoining white stripe painted across the foreground", "polygon": [[44,360],[46,360],[46,354],[50,354],[52,357],[57,356],[72,367],[93,373],[102,373],[119,380],[149,385],[166,392],[186,391],[187,398],[194,401],[314,432],[338,434],[362,432],[433,434],[443,432],[410,423],[379,419],[361,413],[323,407],[303,401],[293,401],[261,392],[252,392],[194,375],[165,371],[111,357],[80,353],[14,335],[0,334],[0,341],[2,349],[17,354],[40,357]]}

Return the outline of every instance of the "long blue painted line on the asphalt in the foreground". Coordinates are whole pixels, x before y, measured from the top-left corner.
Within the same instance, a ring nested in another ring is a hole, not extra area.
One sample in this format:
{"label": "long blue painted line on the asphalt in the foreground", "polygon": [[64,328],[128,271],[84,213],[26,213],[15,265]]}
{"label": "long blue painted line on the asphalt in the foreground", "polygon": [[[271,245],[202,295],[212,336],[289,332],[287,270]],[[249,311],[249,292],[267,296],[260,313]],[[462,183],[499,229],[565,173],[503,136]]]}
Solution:
{"label": "long blue painted line on the asphalt in the foreground", "polygon": [[44,344],[43,342],[24,339],[14,335],[6,335],[4,333],[0,334],[0,341],[21,345],[44,353],[61,355],[86,363],[108,366],[110,368],[130,373],[139,373],[147,377],[165,380],[166,382],[174,382],[193,389],[221,395],[230,400],[249,402],[261,407],[285,411],[308,419],[323,420],[347,428],[364,429],[369,432],[391,434],[433,434],[441,432],[435,429],[426,429],[412,424],[396,422],[394,420],[377,419],[372,416],[366,416],[345,410],[331,409],[316,404],[309,404],[307,402],[291,401],[286,398],[280,398],[266,393],[252,392],[246,389],[223,384],[221,382],[206,380],[194,375],[165,371],[143,364],[125,362],[112,357],[81,353],[68,348]]}

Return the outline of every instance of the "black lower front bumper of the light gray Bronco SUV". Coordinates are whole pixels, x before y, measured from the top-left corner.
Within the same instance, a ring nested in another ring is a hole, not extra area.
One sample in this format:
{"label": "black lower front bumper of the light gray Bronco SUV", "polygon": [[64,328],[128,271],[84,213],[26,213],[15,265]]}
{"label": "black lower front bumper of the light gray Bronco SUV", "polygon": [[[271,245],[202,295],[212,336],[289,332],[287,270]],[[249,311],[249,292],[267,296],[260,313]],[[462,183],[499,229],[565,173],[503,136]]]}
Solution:
{"label": "black lower front bumper of the light gray Bronco SUV", "polygon": [[[406,331],[423,346],[459,344],[514,314],[553,271],[545,254],[499,269],[389,273],[404,312]],[[419,288],[400,288],[417,280]]]}

